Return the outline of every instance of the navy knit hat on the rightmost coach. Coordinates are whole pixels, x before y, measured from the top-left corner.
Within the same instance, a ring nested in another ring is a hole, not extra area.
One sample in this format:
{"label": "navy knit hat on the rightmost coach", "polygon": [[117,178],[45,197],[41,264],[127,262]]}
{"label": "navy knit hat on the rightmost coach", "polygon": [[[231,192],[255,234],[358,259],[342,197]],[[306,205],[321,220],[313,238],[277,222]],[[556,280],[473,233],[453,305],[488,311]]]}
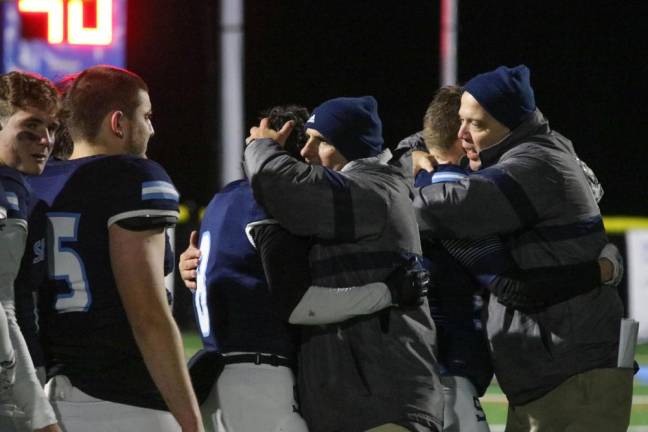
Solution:
{"label": "navy knit hat on the rightmost coach", "polygon": [[486,111],[513,130],[536,109],[530,71],[525,65],[500,66],[479,74],[464,86]]}

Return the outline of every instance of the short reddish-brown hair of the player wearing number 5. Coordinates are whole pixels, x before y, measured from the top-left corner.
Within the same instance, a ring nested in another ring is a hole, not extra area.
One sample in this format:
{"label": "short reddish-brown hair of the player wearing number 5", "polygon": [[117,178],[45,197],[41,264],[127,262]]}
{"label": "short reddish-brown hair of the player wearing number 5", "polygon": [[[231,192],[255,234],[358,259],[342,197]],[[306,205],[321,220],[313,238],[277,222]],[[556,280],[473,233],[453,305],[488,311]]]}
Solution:
{"label": "short reddish-brown hair of the player wearing number 5", "polygon": [[63,98],[65,123],[73,139],[94,139],[101,122],[111,111],[133,115],[140,90],[148,86],[137,74],[114,66],[99,65],[81,72],[65,85]]}

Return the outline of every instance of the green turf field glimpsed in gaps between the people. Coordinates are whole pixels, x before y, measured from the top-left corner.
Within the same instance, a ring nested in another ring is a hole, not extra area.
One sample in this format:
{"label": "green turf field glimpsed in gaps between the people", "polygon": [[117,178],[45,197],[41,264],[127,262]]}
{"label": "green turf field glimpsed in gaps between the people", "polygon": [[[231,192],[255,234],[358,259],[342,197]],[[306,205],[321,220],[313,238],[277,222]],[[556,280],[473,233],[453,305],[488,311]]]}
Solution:
{"label": "green turf field glimpsed in gaps between the people", "polygon": [[[184,333],[184,343],[187,358],[191,357],[201,346],[200,338],[195,333]],[[639,364],[648,365],[648,344],[637,347],[635,359]],[[648,426],[648,385],[641,385],[635,381],[634,395],[642,398],[635,401],[632,406],[630,424],[633,426]],[[486,412],[488,423],[491,425],[506,423],[506,398],[502,395],[502,390],[497,384],[493,383],[488,388],[482,401],[482,407]]]}

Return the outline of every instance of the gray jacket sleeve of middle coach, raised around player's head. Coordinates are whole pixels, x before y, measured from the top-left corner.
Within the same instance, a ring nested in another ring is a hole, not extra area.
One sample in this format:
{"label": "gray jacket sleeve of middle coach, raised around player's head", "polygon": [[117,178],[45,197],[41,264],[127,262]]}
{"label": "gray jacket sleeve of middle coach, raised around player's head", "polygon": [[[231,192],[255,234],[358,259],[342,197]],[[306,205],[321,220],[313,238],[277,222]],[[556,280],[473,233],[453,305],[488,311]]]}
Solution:
{"label": "gray jacket sleeve of middle coach, raised around player's head", "polygon": [[270,139],[245,149],[254,197],[293,234],[355,241],[383,229],[386,200],[353,176],[301,162]]}

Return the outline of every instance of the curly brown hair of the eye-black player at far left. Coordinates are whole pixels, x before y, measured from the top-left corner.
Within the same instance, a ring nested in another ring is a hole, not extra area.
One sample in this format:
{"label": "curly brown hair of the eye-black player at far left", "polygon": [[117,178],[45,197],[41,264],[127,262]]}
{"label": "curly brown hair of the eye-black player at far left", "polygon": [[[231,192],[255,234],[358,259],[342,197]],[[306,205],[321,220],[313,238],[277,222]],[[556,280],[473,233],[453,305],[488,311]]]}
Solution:
{"label": "curly brown hair of the eye-black player at far left", "polygon": [[0,117],[27,108],[57,115],[60,104],[59,93],[47,78],[17,71],[0,75]]}

